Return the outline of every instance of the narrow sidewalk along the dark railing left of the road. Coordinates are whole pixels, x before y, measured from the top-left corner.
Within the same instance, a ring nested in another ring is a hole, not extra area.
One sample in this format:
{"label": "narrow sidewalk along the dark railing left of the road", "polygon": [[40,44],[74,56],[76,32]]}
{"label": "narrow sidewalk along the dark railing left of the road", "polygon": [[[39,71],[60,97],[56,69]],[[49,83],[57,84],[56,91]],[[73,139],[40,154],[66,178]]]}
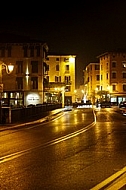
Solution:
{"label": "narrow sidewalk along the dark railing left of the road", "polygon": [[64,108],[59,108],[59,109],[55,109],[52,111],[49,111],[48,115],[46,117],[37,119],[37,120],[32,120],[32,121],[28,121],[28,122],[19,122],[19,123],[13,123],[13,124],[0,124],[0,131],[5,131],[5,130],[9,130],[11,128],[17,128],[17,127],[21,127],[21,126],[25,126],[25,125],[33,125],[36,123],[43,123],[46,121],[49,121],[51,119],[54,119],[58,114],[62,114],[64,111]]}

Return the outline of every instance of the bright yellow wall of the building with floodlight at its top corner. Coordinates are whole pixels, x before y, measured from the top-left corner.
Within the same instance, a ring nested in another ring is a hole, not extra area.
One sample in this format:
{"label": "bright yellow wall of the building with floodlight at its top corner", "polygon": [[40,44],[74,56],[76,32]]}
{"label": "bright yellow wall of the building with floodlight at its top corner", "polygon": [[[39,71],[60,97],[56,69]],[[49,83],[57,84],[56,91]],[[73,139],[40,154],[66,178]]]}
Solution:
{"label": "bright yellow wall of the building with floodlight at its top corner", "polygon": [[[73,58],[72,61],[70,59],[71,57]],[[49,77],[50,83],[55,83],[55,87],[56,85],[57,87],[60,87],[60,83],[64,83],[63,86],[61,85],[61,87],[64,87],[65,91],[64,101],[66,102],[67,99],[70,99],[70,103],[75,102],[75,58],[75,55],[48,55],[47,60],[49,71],[47,72],[46,77]],[[56,65],[59,65],[59,71],[56,71]],[[56,77],[59,77],[58,81],[56,81]],[[67,88],[70,90],[67,91]],[[50,90],[56,91],[56,88]]]}

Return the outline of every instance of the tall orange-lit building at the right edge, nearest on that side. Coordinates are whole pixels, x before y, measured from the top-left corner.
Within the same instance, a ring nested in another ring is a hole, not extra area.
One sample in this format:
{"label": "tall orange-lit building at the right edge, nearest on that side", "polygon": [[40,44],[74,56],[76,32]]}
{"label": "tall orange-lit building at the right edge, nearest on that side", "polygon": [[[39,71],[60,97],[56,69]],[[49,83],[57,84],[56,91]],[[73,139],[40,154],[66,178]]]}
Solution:
{"label": "tall orange-lit building at the right edge, nearest on that side", "polygon": [[126,51],[106,52],[100,61],[100,88],[113,104],[126,100]]}

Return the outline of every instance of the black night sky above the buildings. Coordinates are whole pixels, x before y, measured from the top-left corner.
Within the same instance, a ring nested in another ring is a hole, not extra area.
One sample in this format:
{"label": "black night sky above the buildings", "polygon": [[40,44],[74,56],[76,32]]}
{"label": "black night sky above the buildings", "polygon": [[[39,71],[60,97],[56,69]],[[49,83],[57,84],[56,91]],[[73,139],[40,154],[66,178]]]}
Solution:
{"label": "black night sky above the buildings", "polygon": [[45,3],[10,9],[9,16],[0,18],[0,31],[46,41],[50,52],[75,54],[78,85],[83,69],[98,55],[126,48],[125,0]]}

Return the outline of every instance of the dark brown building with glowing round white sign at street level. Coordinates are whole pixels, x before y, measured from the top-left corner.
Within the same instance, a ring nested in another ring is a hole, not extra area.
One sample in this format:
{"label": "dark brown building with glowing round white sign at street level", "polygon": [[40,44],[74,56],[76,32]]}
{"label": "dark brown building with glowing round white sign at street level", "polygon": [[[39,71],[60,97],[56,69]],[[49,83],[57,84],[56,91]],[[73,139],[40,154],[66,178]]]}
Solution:
{"label": "dark brown building with glowing round white sign at street level", "polygon": [[44,63],[47,53],[48,45],[45,42],[15,36],[0,38],[0,61],[14,65],[11,74],[2,69],[3,106],[21,107],[44,102]]}

